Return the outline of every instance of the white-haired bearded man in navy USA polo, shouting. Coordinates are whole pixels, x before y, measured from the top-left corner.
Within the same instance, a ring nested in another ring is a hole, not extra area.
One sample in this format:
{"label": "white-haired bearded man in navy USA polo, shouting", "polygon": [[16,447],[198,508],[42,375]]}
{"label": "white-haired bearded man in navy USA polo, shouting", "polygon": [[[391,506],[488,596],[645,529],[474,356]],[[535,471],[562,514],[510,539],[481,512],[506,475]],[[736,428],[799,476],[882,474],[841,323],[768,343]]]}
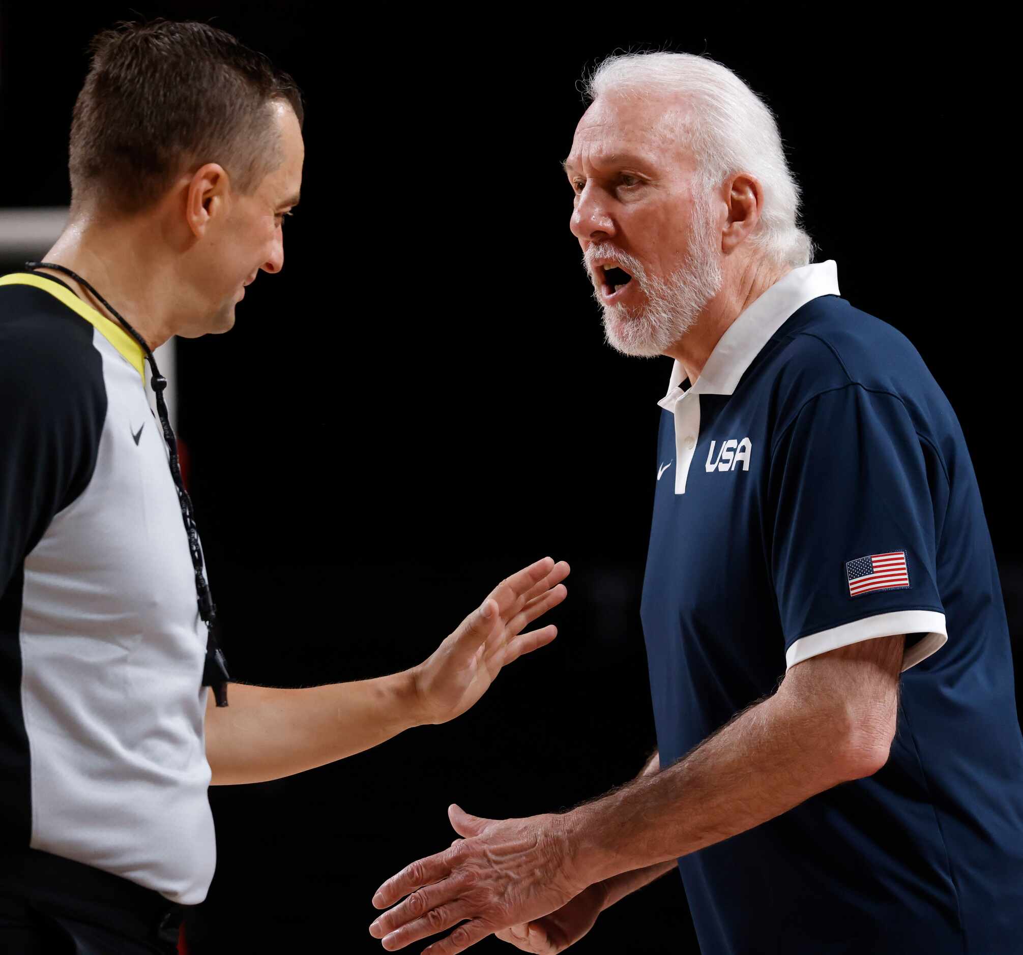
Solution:
{"label": "white-haired bearded man in navy USA polo, shouting", "polygon": [[572,231],[610,344],[675,359],[642,600],[659,752],[569,812],[452,806],[462,838],[385,882],[379,908],[408,898],[370,934],[561,952],[677,864],[704,955],[1016,950],[1023,738],[952,409],[808,264],[738,77],[626,55],[589,94]]}

